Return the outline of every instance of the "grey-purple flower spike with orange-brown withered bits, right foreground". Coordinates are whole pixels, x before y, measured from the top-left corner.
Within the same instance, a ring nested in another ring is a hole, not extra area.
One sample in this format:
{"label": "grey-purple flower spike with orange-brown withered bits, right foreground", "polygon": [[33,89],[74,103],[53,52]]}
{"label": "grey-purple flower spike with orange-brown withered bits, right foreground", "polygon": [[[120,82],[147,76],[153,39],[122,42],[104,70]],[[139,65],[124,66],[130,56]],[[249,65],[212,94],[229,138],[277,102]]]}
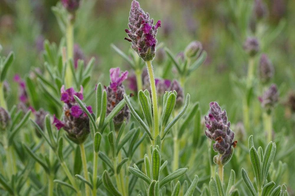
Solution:
{"label": "grey-purple flower spike with orange-brown withered bits, right foreground", "polygon": [[225,165],[232,156],[232,146],[237,143],[233,142],[235,133],[230,129],[226,111],[222,111],[217,102],[211,102],[209,106],[208,116],[205,115],[205,135],[215,141],[213,149],[221,155],[220,158],[214,157],[214,162]]}

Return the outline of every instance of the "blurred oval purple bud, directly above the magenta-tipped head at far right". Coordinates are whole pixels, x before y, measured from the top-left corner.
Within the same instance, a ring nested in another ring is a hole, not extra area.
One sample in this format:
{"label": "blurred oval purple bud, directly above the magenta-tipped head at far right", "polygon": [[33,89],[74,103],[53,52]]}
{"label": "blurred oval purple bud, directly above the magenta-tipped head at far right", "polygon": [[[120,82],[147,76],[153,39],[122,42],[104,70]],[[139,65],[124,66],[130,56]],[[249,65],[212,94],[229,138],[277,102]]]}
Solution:
{"label": "blurred oval purple bud, directly above the magenta-tipped head at far right", "polygon": [[262,54],[259,61],[259,78],[262,83],[268,83],[273,77],[274,68],[271,61],[265,54]]}

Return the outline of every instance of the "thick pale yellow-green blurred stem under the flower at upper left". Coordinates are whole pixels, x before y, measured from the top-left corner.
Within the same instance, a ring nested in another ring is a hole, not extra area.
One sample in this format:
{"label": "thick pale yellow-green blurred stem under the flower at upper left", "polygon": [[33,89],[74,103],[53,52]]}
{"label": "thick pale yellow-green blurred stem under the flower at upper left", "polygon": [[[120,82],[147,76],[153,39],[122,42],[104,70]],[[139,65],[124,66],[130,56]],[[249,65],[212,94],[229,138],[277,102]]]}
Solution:
{"label": "thick pale yellow-green blurred stem under the flower at upper left", "polygon": [[[65,29],[65,37],[67,43],[67,59],[73,58],[74,53],[74,25],[71,20],[68,21],[68,24]],[[65,85],[66,87],[70,87],[72,84],[72,73],[71,68],[69,67],[70,64],[66,64],[65,69]]]}

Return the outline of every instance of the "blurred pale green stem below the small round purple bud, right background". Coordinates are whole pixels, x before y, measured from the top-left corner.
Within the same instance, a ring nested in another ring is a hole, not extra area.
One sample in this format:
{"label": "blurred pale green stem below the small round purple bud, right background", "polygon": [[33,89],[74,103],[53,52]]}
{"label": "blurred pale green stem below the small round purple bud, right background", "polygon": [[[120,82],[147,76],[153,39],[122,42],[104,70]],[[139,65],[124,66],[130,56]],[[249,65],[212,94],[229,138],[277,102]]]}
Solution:
{"label": "blurred pale green stem below the small round purple bud, right background", "polygon": [[254,78],[254,58],[249,58],[249,64],[248,64],[248,75],[246,79],[246,95],[243,100],[243,122],[245,125],[246,131],[250,130],[250,111],[249,111],[249,103],[248,103],[248,91],[250,90],[252,86],[252,81]]}

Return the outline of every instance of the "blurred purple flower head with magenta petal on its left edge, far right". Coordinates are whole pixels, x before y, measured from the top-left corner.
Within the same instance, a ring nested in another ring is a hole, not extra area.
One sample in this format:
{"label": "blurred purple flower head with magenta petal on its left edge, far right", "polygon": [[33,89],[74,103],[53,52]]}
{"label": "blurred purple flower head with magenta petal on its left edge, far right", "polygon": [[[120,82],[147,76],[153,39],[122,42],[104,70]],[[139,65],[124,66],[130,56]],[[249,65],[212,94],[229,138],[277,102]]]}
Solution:
{"label": "blurred purple flower head with magenta petal on its left edge, far right", "polygon": [[266,108],[269,112],[278,102],[278,88],[275,84],[272,84],[264,93],[262,97],[258,97],[263,108]]}

